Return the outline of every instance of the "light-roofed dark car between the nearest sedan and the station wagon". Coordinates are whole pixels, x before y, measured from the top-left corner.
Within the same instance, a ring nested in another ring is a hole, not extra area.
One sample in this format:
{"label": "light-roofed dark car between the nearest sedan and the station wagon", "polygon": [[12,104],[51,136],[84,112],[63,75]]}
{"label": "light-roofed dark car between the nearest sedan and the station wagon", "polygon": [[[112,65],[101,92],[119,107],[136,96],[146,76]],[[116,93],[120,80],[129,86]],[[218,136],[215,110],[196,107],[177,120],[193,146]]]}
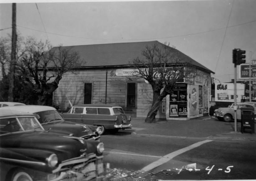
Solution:
{"label": "light-roofed dark car between the nearest sedan and the station wagon", "polygon": [[45,130],[66,135],[74,135],[85,139],[98,140],[101,134],[101,127],[85,125],[64,121],[60,113],[50,106],[21,105],[0,108],[0,111],[16,110],[33,113]]}

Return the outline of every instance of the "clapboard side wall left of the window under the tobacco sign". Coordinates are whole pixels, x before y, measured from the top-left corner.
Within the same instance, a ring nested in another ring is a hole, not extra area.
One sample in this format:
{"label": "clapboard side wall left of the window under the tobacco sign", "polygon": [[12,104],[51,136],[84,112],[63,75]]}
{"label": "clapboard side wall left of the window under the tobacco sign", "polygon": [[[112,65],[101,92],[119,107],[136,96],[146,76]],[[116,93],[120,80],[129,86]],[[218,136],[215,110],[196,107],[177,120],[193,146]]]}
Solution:
{"label": "clapboard side wall left of the window under the tobacco sign", "polygon": [[[61,109],[66,109],[69,106],[68,99],[72,104],[83,104],[85,83],[92,83],[92,103],[104,104],[106,98],[106,71],[107,104],[118,104],[125,107],[128,79],[115,76],[113,74],[115,69],[80,70],[76,74],[65,73],[54,93],[54,104],[60,105]],[[111,71],[113,71],[112,74]]]}

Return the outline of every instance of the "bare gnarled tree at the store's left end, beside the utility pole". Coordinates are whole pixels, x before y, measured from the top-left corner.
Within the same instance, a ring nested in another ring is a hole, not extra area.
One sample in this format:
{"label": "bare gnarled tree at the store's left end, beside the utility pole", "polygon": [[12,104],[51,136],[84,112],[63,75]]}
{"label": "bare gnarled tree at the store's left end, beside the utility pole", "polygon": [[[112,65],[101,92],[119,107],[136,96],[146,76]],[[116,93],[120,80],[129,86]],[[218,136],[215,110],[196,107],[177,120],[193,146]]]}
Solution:
{"label": "bare gnarled tree at the store's left end, beside the utility pole", "polygon": [[49,105],[62,75],[81,66],[80,56],[65,47],[52,48],[48,41],[36,41],[31,37],[25,42],[25,50],[19,62],[24,85],[33,88],[37,104]]}

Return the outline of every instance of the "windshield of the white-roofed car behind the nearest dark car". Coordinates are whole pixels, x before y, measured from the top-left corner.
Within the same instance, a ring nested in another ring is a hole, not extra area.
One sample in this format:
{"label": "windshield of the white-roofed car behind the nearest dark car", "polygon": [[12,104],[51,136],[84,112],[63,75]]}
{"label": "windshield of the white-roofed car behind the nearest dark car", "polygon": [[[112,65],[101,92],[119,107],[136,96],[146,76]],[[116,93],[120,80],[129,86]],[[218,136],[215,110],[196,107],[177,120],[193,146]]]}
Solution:
{"label": "windshield of the white-roofed car behind the nearest dark car", "polygon": [[56,110],[38,112],[35,113],[35,117],[41,124],[51,121],[63,120],[61,115]]}

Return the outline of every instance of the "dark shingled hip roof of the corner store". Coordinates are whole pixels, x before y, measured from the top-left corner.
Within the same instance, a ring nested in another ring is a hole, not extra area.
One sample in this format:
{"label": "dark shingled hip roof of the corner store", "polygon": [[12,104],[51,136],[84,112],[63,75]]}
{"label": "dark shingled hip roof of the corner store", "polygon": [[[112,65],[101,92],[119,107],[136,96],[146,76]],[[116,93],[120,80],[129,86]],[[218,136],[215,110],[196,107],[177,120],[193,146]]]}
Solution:
{"label": "dark shingled hip roof of the corner store", "polygon": [[[80,58],[85,61],[83,67],[109,67],[109,66],[127,66],[129,61],[139,57],[144,59],[141,52],[146,46],[153,46],[154,44],[161,44],[158,41],[150,42],[128,42],[128,43],[110,43],[110,44],[93,44],[93,45],[77,45],[77,46],[63,46],[63,48],[79,53]],[[55,49],[57,47],[54,47]],[[171,51],[179,53],[184,62],[193,64],[205,71],[214,73],[202,64],[199,64],[189,56],[175,48],[169,47]]]}

